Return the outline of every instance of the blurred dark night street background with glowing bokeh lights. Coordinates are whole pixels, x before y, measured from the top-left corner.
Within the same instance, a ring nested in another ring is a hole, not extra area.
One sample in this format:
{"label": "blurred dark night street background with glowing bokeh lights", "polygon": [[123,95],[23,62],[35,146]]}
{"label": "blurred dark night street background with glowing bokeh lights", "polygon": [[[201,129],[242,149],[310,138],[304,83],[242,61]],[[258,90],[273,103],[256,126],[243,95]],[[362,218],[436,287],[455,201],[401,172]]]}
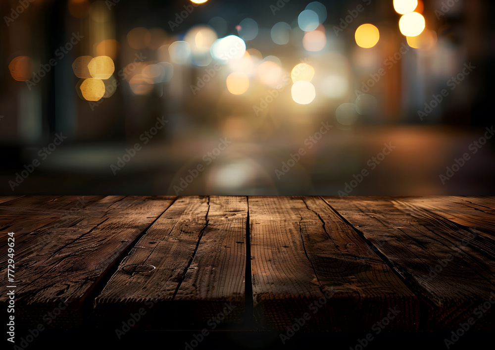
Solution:
{"label": "blurred dark night street background with glowing bokeh lights", "polygon": [[0,194],[495,195],[493,1],[396,6],[2,0]]}

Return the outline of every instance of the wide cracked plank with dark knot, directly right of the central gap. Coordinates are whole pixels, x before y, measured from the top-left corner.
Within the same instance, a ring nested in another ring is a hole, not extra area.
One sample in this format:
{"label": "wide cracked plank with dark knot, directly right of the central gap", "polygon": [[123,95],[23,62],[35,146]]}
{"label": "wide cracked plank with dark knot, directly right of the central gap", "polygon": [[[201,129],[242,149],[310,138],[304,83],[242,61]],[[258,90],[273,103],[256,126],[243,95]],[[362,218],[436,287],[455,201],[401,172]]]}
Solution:
{"label": "wide cracked plank with dark knot, directly right of the central gap", "polygon": [[249,218],[259,326],[286,331],[308,312],[302,331],[366,331],[392,308],[390,330],[418,329],[417,298],[320,198],[249,197]]}

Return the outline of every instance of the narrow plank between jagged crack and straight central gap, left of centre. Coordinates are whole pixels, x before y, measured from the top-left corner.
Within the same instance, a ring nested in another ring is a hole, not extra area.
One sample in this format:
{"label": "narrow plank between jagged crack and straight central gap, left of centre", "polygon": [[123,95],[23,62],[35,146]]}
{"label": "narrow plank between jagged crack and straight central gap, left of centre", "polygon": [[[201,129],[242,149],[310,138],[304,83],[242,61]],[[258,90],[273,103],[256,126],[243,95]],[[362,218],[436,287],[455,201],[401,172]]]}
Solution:
{"label": "narrow plank between jagged crack and straight central gap, left of centre", "polygon": [[244,321],[246,279],[246,197],[210,197],[208,223],[198,250],[174,297],[176,309],[207,321],[227,303],[222,323]]}

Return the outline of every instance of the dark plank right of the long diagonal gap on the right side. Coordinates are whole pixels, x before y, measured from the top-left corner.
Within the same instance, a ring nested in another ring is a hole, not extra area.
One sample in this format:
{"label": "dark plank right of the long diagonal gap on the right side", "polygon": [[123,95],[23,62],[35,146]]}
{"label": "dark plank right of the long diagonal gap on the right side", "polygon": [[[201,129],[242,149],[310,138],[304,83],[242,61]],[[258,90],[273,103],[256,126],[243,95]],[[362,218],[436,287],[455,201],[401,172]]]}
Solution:
{"label": "dark plank right of the long diagonal gap on the right side", "polygon": [[[429,330],[458,327],[490,299],[495,290],[494,250],[477,248],[487,242],[486,237],[411,206],[409,198],[324,199],[377,247],[426,302]],[[462,239],[467,244],[461,246]],[[484,254],[490,259],[482,258]],[[487,313],[473,329],[491,329],[494,321]]]}

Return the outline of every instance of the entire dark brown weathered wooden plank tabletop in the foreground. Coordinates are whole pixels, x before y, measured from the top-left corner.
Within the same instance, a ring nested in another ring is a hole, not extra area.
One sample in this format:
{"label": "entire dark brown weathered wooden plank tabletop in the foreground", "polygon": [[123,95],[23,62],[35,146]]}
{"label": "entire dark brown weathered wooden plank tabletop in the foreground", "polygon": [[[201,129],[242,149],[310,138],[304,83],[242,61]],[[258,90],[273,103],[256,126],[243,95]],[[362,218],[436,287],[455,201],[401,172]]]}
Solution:
{"label": "entire dark brown weathered wooden plank tabletop in the foreground", "polygon": [[22,327],[495,328],[491,197],[11,196],[0,228]]}

